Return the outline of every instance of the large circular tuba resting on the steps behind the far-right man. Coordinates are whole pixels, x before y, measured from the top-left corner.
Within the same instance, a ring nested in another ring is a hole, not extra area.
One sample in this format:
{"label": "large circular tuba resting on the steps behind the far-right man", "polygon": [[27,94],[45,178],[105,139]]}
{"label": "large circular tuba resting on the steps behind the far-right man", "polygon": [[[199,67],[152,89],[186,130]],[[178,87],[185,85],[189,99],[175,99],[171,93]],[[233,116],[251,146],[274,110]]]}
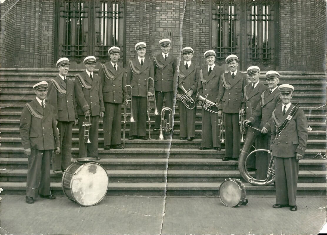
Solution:
{"label": "large circular tuba resting on the steps behind the far-right man", "polygon": [[[245,124],[247,125],[247,124]],[[273,156],[271,156],[269,166],[268,166],[268,171],[267,171],[267,178],[263,180],[255,179],[252,176],[250,176],[247,168],[246,168],[246,162],[247,159],[256,152],[263,151],[267,152],[270,154],[270,151],[267,149],[256,149],[252,152],[249,153],[249,150],[255,140],[255,138],[261,133],[261,130],[259,128],[249,126],[248,127],[248,132],[246,136],[246,140],[244,142],[243,148],[241,150],[239,159],[238,159],[238,169],[242,175],[242,177],[247,180],[250,184],[256,185],[256,186],[266,186],[274,182],[275,180],[275,162]]]}

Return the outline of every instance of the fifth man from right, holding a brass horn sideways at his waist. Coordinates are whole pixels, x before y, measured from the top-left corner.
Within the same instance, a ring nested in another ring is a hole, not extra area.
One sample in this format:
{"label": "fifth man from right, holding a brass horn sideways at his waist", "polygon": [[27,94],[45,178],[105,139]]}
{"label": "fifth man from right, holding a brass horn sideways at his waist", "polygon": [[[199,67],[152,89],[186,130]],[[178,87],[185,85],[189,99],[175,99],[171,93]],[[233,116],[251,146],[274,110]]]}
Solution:
{"label": "fifth man from right, holding a brass horn sideways at his waist", "polygon": [[[216,53],[214,50],[208,50],[203,54],[208,66],[200,70],[200,81],[198,82],[197,93],[207,100],[215,103],[219,90],[219,77],[223,70],[215,64]],[[208,94],[208,95],[207,95]],[[199,105],[202,101],[198,101]],[[200,150],[212,149],[219,151],[220,137],[218,136],[217,109],[212,108],[216,113],[202,109],[202,143]]]}

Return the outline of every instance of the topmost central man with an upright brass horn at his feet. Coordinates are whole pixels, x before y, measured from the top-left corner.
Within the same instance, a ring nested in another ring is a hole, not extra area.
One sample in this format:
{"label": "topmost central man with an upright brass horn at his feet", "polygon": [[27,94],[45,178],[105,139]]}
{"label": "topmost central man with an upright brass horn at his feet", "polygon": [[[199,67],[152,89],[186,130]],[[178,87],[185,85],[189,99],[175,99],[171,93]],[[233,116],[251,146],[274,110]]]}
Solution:
{"label": "topmost central man with an upright brass horn at his feet", "polygon": [[[171,55],[171,53],[169,53],[169,39],[162,39],[159,41],[159,44],[162,53],[153,57],[153,68],[157,110],[159,113],[161,113],[163,101],[165,102],[165,107],[173,109],[173,99],[175,97],[173,85],[177,59]],[[174,116],[174,114],[172,114],[172,116]],[[153,129],[154,131],[158,131],[160,128],[160,117],[160,115],[156,116],[155,128]],[[169,120],[168,114],[165,115],[165,119]]]}

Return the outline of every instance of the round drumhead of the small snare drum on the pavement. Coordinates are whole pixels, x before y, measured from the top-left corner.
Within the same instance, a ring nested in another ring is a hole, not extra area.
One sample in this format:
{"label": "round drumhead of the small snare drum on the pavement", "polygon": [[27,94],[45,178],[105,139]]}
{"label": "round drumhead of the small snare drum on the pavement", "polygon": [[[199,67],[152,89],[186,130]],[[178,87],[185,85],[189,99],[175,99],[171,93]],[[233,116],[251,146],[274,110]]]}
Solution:
{"label": "round drumhead of the small snare drum on the pavement", "polygon": [[241,201],[242,192],[235,181],[228,179],[221,183],[219,197],[225,206],[235,207]]}

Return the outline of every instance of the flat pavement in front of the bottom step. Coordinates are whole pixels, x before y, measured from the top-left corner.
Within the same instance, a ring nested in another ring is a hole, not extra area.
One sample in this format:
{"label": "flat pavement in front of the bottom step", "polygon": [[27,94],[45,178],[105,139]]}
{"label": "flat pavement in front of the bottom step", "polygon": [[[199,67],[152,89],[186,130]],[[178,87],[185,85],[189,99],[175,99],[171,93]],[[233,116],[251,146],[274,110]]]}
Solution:
{"label": "flat pavement in front of the bottom step", "polygon": [[297,197],[298,211],[274,209],[275,197],[248,196],[246,206],[218,197],[106,196],[83,207],[64,196],[2,195],[0,234],[318,234],[326,197]]}

